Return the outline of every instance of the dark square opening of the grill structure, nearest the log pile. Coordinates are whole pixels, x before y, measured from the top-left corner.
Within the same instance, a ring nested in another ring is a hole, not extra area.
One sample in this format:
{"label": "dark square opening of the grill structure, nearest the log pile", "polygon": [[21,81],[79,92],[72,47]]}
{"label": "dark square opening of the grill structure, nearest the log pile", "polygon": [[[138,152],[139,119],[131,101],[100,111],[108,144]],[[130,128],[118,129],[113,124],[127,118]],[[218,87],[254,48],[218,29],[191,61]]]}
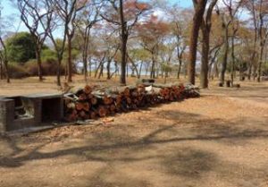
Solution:
{"label": "dark square opening of the grill structure, nearest the log pile", "polygon": [[61,120],[61,98],[42,99],[42,123]]}

